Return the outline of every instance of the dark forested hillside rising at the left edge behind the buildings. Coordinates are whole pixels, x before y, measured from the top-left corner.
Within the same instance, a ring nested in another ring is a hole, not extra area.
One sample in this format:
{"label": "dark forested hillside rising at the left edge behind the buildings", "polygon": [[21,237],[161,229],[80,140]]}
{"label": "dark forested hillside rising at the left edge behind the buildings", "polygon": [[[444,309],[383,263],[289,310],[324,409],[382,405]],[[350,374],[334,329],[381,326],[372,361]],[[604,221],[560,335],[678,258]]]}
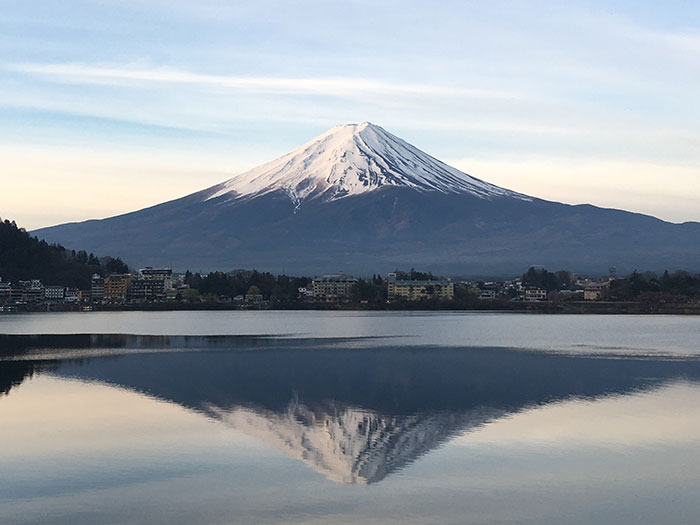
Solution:
{"label": "dark forested hillside rising at the left edge behind the buildings", "polygon": [[126,272],[120,258],[98,258],[32,237],[14,221],[0,220],[0,277],[3,281],[40,279],[44,284],[88,288],[94,273]]}

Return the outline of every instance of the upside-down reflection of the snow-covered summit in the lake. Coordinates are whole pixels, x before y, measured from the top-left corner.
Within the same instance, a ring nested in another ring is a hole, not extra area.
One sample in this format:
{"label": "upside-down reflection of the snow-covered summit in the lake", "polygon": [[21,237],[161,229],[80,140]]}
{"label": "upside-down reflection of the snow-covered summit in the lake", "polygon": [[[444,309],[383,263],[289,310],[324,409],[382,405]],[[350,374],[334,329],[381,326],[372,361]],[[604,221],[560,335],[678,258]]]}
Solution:
{"label": "upside-down reflection of the snow-covered summit in the lake", "polygon": [[331,481],[372,483],[400,470],[450,437],[500,415],[495,411],[382,416],[352,407],[286,413],[208,407],[235,429],[299,459]]}

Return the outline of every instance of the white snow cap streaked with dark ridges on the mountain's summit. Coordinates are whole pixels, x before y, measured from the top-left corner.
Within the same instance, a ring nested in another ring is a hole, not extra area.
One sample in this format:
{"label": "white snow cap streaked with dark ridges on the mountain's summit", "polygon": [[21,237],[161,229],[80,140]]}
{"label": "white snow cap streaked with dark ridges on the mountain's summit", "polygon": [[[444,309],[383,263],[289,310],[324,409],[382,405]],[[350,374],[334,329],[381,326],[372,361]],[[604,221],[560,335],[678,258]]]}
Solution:
{"label": "white snow cap streaked with dark ridges on the mountain's summit", "polygon": [[332,201],[385,186],[529,199],[452,168],[369,122],[335,126],[294,151],[215,186],[209,199],[229,195],[238,200],[282,190],[298,207],[307,198]]}

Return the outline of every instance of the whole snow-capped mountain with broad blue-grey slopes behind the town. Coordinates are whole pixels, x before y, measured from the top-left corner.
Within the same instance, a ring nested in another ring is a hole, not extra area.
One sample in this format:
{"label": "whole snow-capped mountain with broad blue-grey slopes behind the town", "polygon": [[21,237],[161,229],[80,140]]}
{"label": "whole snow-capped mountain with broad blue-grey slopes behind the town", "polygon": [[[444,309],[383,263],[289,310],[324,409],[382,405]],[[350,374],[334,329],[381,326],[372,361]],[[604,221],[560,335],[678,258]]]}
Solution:
{"label": "whole snow-capped mountain with broad blue-grey slopes behind the town", "polygon": [[34,232],[176,270],[483,276],[700,267],[700,223],[545,201],[489,184],[370,124],[336,126],[200,192]]}

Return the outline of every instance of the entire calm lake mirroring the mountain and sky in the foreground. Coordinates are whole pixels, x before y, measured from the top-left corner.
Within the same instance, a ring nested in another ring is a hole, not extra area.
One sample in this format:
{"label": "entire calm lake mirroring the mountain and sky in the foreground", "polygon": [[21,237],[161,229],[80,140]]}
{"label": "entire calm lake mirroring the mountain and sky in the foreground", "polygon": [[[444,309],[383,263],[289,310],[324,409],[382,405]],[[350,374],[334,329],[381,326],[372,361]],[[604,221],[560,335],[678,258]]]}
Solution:
{"label": "entire calm lake mirroring the mountain and sky in the foreground", "polygon": [[697,523],[700,320],[0,315],[0,523]]}

